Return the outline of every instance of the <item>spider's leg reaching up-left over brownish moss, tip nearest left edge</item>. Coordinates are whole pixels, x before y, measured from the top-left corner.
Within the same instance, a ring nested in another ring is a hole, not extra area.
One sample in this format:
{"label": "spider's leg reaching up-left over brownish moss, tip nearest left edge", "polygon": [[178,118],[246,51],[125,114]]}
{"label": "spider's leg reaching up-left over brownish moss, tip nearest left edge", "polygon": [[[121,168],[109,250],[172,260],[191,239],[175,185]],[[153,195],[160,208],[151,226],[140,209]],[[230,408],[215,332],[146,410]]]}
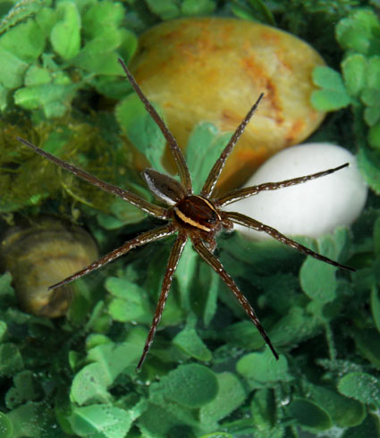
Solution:
{"label": "spider's leg reaching up-left over brownish moss, tip nearest left edge", "polygon": [[56,156],[49,154],[45,150],[33,145],[27,140],[21,139],[20,137],[17,137],[17,139],[23,145],[33,149],[34,152],[36,152],[38,155],[43,156],[44,158],[46,158],[47,160],[51,161],[54,164],[58,164],[60,167],[63,167],[63,169],[65,169],[66,171],[74,174],[75,176],[80,177],[82,180],[87,181],[90,184],[93,184],[94,186],[97,186],[101,190],[104,190],[108,193],[113,193],[114,195],[124,199],[127,202],[130,202],[133,206],[137,206],[141,210],[148,213],[148,215],[158,217],[159,219],[166,219],[166,209],[163,208],[162,206],[155,206],[154,204],[146,201],[143,198],[140,198],[138,195],[135,195],[134,193],[131,193],[128,190],[122,190],[120,189],[120,187],[114,186],[113,184],[109,184],[106,181],[99,180],[97,177],[91,175],[90,173],[87,173],[81,170],[79,167],[69,164],[61,160],[60,158],[57,158]]}

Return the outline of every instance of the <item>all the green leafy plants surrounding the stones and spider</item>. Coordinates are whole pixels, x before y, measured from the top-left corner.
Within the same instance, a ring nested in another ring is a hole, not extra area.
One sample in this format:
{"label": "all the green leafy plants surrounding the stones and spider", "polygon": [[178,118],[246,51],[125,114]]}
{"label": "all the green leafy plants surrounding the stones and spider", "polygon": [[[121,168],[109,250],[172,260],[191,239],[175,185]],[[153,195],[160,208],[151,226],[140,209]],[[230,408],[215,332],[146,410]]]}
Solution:
{"label": "all the green leafy plants surrounding the stones and spider", "polygon": [[[197,14],[263,21],[307,39],[324,55],[331,68],[316,70],[320,90],[312,101],[334,113],[313,139],[357,153],[373,192],[351,230],[302,239],[356,267],[355,274],[305,260],[277,242],[220,236],[217,256],[257,309],[278,362],[189,245],[153,347],[135,372],[171,239],[81,279],[67,318],[59,320],[21,312],[11,275],[0,275],[0,436],[295,438],[308,431],[378,437],[378,1],[40,0],[9,10],[10,4],[0,4],[2,229],[21,217],[59,214],[86,223],[105,254],[154,226],[14,138],[35,141],[148,198],[131,143],[163,170],[165,142],[129,94],[117,56],[128,61],[136,35],[153,24]],[[205,178],[225,139],[207,122],[194,128],[186,155],[196,181]],[[201,165],[196,145],[205,151]]]}

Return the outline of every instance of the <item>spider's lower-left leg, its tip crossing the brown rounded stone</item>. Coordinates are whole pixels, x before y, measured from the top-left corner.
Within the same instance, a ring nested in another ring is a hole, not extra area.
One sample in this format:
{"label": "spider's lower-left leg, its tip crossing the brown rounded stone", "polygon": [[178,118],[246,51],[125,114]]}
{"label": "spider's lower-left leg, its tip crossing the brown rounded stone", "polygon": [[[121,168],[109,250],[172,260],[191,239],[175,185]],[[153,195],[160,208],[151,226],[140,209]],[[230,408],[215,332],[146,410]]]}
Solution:
{"label": "spider's lower-left leg, its tip crossing the brown rounded stone", "polygon": [[52,286],[47,288],[48,291],[63,286],[63,284],[67,284],[69,282],[73,282],[83,275],[87,275],[92,271],[95,271],[97,268],[106,265],[109,262],[112,262],[115,258],[121,257],[132,248],[140,247],[141,245],[145,245],[148,242],[152,242],[154,240],[160,240],[167,236],[170,236],[174,232],[177,231],[177,227],[173,225],[173,223],[166,224],[160,228],[155,228],[154,230],[149,230],[148,232],[143,232],[139,236],[135,237],[132,240],[128,240],[125,242],[120,248],[116,248],[110,253],[106,254],[106,256],[100,257],[97,261],[91,263],[91,265],[86,266],[75,274],[70,275],[63,279],[61,282],[57,282]]}

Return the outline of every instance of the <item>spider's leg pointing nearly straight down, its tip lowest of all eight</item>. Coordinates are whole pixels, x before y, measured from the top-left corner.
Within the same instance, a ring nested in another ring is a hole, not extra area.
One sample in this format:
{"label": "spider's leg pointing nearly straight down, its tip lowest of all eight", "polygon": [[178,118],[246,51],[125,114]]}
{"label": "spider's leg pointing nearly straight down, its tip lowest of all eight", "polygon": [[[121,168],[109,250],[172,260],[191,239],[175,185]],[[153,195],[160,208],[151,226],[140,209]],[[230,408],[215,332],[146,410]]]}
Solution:
{"label": "spider's leg pointing nearly straight down, its tip lowest of all eight", "polygon": [[170,253],[169,261],[165,271],[164,282],[161,289],[160,298],[158,299],[158,304],[156,307],[155,316],[153,316],[152,325],[150,326],[147,341],[145,341],[144,350],[142,351],[141,358],[139,359],[139,365],[137,369],[139,370],[144,363],[145,358],[147,357],[148,351],[150,349],[150,345],[153,341],[153,338],[156,334],[157,325],[161,320],[161,316],[164,311],[164,307],[166,304],[166,299],[170,291],[170,287],[173,282],[173,274],[178,265],[180,257],[182,255],[183,248],[186,245],[188,240],[188,236],[186,234],[179,234],[177,240],[175,240],[172,252]]}

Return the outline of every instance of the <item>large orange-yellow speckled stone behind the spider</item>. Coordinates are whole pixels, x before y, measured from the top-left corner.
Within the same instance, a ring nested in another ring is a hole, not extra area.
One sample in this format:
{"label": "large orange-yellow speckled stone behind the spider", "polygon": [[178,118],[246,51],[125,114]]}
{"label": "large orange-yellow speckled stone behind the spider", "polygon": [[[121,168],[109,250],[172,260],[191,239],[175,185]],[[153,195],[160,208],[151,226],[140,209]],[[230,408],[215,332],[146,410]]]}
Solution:
{"label": "large orange-yellow speckled stone behind the spider", "polygon": [[317,65],[325,65],[321,56],[282,30],[230,18],[191,18],[166,21],[144,33],[131,70],[148,98],[165,111],[181,147],[198,122],[234,131],[265,93],[222,173],[219,188],[228,190],[322,122],[325,114],[309,104]]}

